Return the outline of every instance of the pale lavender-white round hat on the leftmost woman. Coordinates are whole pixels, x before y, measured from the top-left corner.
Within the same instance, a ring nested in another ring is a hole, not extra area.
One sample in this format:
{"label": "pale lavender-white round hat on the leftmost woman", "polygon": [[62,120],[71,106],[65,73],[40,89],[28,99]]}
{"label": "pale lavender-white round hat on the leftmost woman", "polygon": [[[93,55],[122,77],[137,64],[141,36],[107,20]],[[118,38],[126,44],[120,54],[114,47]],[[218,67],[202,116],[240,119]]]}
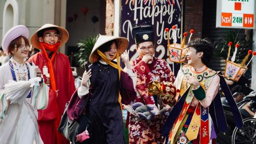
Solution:
{"label": "pale lavender-white round hat on the leftmost woman", "polygon": [[9,29],[5,33],[4,38],[2,40],[2,48],[6,54],[8,54],[8,47],[9,47],[9,44],[11,43],[11,41],[18,38],[21,35],[28,39],[29,30],[26,26],[18,25],[18,26],[15,26],[15,27]]}

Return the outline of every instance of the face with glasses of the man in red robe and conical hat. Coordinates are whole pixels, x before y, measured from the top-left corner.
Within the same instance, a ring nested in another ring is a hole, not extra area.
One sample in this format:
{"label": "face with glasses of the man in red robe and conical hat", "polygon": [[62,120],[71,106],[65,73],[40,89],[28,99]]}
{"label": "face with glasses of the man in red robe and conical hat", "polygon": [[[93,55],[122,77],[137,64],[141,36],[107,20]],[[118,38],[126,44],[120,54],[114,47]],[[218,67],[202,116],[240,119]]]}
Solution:
{"label": "face with glasses of the man in red robe and conical hat", "polygon": [[56,30],[45,30],[43,37],[39,37],[39,41],[54,45],[59,41],[59,34]]}

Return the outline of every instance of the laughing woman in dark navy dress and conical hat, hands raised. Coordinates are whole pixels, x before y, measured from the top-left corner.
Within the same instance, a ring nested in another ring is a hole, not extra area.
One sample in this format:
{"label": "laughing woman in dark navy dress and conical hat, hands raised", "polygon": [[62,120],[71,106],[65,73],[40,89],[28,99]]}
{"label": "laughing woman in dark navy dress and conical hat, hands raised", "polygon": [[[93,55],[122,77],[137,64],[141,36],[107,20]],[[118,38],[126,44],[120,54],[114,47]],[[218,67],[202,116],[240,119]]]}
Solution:
{"label": "laughing woman in dark navy dress and conical hat, hands raised", "polygon": [[[80,98],[89,97],[89,88],[93,93],[86,112],[92,122],[87,129],[88,143],[125,143],[121,103],[130,104],[136,97],[136,75],[131,70],[129,52],[125,51],[127,45],[126,38],[100,35],[89,56],[92,64],[77,90]],[[125,64],[124,70],[120,67],[119,56]]]}

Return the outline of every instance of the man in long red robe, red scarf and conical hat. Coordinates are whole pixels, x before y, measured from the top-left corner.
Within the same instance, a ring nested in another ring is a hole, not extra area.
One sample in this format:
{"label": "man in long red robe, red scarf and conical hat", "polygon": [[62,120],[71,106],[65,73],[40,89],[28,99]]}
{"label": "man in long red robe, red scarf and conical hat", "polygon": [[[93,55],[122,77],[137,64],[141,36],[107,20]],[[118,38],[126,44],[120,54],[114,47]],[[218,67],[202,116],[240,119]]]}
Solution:
{"label": "man in long red robe, red scarf and conical hat", "polygon": [[30,39],[32,46],[42,51],[32,55],[28,62],[39,66],[44,82],[50,87],[49,105],[46,110],[38,112],[40,135],[43,142],[49,144],[69,143],[57,131],[65,104],[75,91],[69,59],[58,52],[67,40],[68,32],[65,28],[49,23],[34,32]]}

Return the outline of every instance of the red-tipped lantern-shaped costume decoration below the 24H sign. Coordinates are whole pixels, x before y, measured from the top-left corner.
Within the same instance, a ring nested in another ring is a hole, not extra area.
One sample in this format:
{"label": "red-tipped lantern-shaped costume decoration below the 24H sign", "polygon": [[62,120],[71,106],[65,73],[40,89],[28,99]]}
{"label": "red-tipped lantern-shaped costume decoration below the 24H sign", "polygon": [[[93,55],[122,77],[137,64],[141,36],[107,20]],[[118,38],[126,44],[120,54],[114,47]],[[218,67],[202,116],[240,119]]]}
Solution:
{"label": "red-tipped lantern-shaped costume decoration below the 24H sign", "polygon": [[[236,54],[237,54],[237,49],[239,47],[239,44],[235,45],[235,47],[236,47],[235,52],[234,52],[233,56],[231,57],[231,61],[230,61],[229,58],[230,58],[231,45],[232,45],[232,42],[229,42],[228,43],[228,56],[227,56],[227,61],[226,61],[224,77],[234,80],[234,81],[238,81],[241,78],[242,74],[245,73],[245,71],[247,70],[247,68],[248,68],[247,66],[251,62],[254,55],[256,55],[256,52],[252,53],[252,50],[249,50],[248,54],[243,59],[242,63],[237,64],[237,63],[235,63],[235,59],[236,59]],[[245,64],[251,54],[253,56],[251,57],[249,63],[245,66]]]}

